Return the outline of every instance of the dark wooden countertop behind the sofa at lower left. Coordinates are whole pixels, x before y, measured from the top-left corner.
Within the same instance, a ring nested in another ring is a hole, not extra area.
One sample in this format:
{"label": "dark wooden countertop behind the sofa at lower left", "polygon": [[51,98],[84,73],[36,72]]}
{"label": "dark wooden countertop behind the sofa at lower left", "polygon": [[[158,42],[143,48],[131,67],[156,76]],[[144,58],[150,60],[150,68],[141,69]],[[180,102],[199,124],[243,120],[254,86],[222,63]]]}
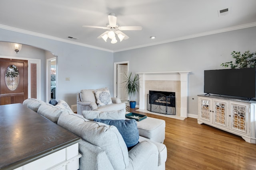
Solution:
{"label": "dark wooden countertop behind the sofa at lower left", "polygon": [[14,169],[80,142],[22,104],[0,106],[0,169]]}

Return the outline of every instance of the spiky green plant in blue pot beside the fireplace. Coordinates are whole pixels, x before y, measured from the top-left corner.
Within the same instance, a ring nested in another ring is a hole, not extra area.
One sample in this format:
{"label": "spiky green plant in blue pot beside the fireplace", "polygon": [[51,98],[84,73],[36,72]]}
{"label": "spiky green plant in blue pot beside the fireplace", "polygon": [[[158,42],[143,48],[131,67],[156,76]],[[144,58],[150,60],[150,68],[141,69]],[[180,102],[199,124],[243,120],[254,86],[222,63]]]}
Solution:
{"label": "spiky green plant in blue pot beside the fireplace", "polygon": [[126,88],[126,94],[128,95],[128,100],[130,101],[130,108],[135,108],[136,106],[136,93],[139,90],[140,84],[139,84],[139,75],[135,74],[132,76],[132,72],[130,72],[128,75],[125,74],[124,76],[124,84]]}

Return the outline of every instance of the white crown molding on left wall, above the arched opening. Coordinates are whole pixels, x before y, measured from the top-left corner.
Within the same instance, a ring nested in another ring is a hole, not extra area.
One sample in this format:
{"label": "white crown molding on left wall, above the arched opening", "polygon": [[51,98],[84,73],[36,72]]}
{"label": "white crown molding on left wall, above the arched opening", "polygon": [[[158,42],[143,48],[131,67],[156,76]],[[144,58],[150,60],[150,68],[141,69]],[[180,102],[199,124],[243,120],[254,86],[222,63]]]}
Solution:
{"label": "white crown molding on left wall, above the arched opening", "polygon": [[84,43],[77,43],[77,42],[70,41],[70,40],[67,40],[67,39],[62,39],[62,38],[53,37],[53,36],[50,36],[50,35],[45,35],[45,34],[41,34],[41,33],[27,31],[25,29],[19,29],[19,28],[15,28],[15,27],[10,27],[10,26],[7,26],[7,25],[1,25],[0,24],[0,28],[7,29],[7,30],[10,30],[10,31],[15,31],[15,32],[18,32],[18,33],[24,33],[24,34],[28,34],[28,35],[34,35],[34,36],[37,36],[37,37],[42,37],[42,38],[52,39],[52,40],[56,40],[56,41],[61,41],[61,42],[64,42],[64,43],[80,45],[80,46],[88,47],[88,48],[92,48],[92,49],[108,51],[108,52],[111,52],[111,53],[114,52],[114,51],[109,50],[109,49],[104,49],[104,48],[100,48],[100,47],[96,47],[96,46],[92,46],[92,45],[88,45],[88,44],[84,44]]}

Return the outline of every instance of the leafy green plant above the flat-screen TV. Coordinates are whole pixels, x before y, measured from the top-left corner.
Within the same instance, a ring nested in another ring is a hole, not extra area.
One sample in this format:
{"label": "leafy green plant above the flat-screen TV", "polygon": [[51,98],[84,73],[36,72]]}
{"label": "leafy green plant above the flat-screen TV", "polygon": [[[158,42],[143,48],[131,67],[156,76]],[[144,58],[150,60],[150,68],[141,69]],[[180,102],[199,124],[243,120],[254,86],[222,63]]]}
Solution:
{"label": "leafy green plant above the flat-screen TV", "polygon": [[244,54],[241,55],[240,51],[231,52],[232,57],[235,59],[233,61],[222,63],[221,66],[230,68],[255,68],[256,67],[256,52],[250,53],[250,51],[245,51]]}

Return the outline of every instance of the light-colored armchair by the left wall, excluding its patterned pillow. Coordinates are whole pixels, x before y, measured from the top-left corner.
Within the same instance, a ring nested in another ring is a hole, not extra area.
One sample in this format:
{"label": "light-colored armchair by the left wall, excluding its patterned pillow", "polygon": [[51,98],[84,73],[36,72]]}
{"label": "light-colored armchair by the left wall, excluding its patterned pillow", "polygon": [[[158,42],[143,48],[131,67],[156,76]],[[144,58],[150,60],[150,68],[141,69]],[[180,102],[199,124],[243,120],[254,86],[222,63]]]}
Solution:
{"label": "light-colored armchair by the left wall, excluding its patterned pillow", "polygon": [[[97,111],[112,111],[125,109],[125,103],[122,103],[119,98],[111,98],[111,104],[98,104],[95,92],[108,91],[108,88],[101,89],[84,89],[77,94],[77,113],[82,115],[83,110],[97,110]],[[110,100],[110,95],[109,95]],[[103,105],[103,106],[102,106]]]}

